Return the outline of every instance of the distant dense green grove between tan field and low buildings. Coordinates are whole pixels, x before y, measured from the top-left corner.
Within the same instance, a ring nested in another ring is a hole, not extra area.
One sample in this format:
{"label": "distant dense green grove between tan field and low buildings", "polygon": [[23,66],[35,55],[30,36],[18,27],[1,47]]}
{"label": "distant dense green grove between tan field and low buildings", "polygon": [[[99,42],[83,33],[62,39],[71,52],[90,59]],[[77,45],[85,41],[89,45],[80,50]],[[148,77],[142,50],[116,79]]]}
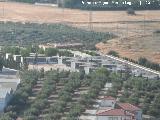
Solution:
{"label": "distant dense green grove between tan field and low buildings", "polygon": [[94,48],[96,43],[112,37],[110,33],[86,31],[64,24],[0,23],[1,45],[82,43],[89,49]]}

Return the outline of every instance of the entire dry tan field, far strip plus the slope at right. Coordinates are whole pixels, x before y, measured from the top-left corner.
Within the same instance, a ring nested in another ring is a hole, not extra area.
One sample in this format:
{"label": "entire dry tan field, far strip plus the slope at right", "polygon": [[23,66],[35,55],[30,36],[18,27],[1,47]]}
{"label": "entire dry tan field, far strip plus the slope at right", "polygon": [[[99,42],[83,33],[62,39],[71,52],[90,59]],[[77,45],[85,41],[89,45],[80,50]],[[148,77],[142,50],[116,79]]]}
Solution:
{"label": "entire dry tan field, far strip plus the slope at right", "polygon": [[[57,7],[36,6],[21,3],[0,2],[0,20],[14,22],[57,23],[88,28],[89,12]],[[144,22],[145,21],[145,22]],[[160,11],[136,11],[130,16],[126,11],[94,11],[92,28],[109,31],[119,37],[96,45],[107,53],[116,50],[121,56],[137,59],[140,56],[160,63]],[[102,23],[101,23],[102,22]]]}

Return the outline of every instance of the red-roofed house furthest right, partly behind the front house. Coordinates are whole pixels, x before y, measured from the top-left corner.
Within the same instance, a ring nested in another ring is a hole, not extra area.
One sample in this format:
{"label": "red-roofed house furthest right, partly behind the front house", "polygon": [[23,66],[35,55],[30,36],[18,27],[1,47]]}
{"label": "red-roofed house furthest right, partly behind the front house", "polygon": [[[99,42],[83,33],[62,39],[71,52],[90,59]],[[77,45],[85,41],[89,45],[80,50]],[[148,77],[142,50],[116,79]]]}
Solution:
{"label": "red-roofed house furthest right, partly behind the front house", "polygon": [[134,114],[136,120],[142,120],[142,110],[130,103],[118,103],[119,108]]}

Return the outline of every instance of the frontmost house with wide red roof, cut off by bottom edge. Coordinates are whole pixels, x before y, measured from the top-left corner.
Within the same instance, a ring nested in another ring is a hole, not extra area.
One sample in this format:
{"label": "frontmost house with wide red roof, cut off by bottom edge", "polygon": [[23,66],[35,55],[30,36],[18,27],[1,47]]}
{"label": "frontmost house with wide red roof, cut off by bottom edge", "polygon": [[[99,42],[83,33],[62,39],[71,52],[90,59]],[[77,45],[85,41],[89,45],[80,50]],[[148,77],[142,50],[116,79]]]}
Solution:
{"label": "frontmost house with wide red roof, cut off by bottom edge", "polygon": [[122,109],[98,111],[96,120],[134,120],[133,114]]}

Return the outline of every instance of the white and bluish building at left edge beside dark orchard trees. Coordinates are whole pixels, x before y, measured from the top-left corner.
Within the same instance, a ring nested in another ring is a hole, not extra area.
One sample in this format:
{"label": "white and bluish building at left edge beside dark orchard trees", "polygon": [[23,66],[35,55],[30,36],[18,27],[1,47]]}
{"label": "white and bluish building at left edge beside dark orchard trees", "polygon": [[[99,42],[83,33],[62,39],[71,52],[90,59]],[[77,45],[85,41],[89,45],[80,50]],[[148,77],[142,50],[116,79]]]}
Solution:
{"label": "white and bluish building at left edge beside dark orchard trees", "polygon": [[13,94],[11,88],[0,88],[0,113],[4,111]]}

